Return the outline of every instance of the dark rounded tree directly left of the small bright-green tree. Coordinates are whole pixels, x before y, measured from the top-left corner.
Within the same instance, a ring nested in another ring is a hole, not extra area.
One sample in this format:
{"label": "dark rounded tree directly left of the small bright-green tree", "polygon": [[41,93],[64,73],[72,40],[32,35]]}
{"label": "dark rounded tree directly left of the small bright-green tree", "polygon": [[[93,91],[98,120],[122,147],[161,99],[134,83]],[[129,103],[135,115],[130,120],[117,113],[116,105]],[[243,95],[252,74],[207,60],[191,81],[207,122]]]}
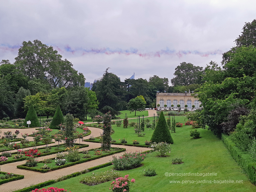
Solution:
{"label": "dark rounded tree directly left of the small bright-green tree", "polygon": [[88,89],[82,86],[70,89],[65,103],[66,111],[80,120],[84,120],[86,115],[86,103],[89,100],[87,91]]}

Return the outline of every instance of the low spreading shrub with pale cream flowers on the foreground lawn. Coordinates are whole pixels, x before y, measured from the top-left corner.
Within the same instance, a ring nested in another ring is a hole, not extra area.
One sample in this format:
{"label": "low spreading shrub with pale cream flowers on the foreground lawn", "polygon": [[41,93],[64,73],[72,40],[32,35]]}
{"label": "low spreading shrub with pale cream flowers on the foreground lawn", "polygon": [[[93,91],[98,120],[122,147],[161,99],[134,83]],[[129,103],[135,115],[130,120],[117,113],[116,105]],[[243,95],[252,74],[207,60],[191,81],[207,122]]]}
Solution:
{"label": "low spreading shrub with pale cream flowers on the foreground lawn", "polygon": [[111,181],[121,176],[122,175],[120,172],[114,172],[113,169],[110,169],[105,172],[96,172],[96,173],[92,172],[92,175],[82,177],[79,182],[92,186],[92,185],[98,185],[100,183],[104,183],[107,181]]}

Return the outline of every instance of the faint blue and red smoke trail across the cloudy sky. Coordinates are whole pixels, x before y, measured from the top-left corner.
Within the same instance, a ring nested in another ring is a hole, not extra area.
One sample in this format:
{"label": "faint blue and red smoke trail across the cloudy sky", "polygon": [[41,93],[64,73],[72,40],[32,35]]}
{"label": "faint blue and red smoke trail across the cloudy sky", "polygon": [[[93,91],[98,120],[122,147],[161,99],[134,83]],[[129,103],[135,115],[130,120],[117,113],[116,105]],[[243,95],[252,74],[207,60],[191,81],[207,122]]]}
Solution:
{"label": "faint blue and red smoke trail across the cloudy sky", "polygon": [[[0,45],[0,51],[6,52],[6,51],[18,51],[21,45],[6,45],[1,44]],[[84,48],[71,48],[71,46],[66,45],[64,47],[60,47],[58,45],[53,45],[53,47],[60,53],[71,53],[73,55],[87,55],[87,54],[106,54],[106,55],[112,55],[112,54],[120,54],[120,55],[138,55],[140,57],[144,58],[150,58],[150,57],[161,57],[164,55],[170,55],[170,56],[178,56],[179,58],[185,56],[185,55],[198,55],[201,57],[208,57],[209,55],[220,55],[222,54],[221,50],[215,50],[215,51],[208,51],[208,52],[200,52],[200,51],[190,51],[190,50],[170,50],[168,47],[166,49],[161,49],[156,52],[143,52],[139,51],[136,48],[130,48],[130,49],[111,49],[111,48],[91,48],[91,49],[84,49]]]}

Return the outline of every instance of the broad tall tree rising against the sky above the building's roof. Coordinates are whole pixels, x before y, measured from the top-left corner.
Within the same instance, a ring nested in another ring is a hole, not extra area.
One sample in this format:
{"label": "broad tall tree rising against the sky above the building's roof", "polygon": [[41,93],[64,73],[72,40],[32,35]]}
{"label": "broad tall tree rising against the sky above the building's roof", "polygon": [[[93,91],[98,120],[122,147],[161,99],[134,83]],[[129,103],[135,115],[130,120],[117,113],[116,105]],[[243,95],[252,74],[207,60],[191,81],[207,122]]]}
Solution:
{"label": "broad tall tree rising against the sky above the building's roof", "polygon": [[182,62],[175,68],[175,72],[171,79],[173,86],[198,84],[201,81],[203,67],[194,66],[191,63]]}

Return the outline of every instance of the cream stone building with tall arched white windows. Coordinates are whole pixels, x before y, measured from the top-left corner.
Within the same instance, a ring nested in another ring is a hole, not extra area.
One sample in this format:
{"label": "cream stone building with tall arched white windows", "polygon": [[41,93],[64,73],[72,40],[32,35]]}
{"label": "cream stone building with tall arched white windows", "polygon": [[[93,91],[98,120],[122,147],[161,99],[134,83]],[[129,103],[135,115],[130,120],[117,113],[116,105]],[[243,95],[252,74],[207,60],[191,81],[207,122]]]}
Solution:
{"label": "cream stone building with tall arched white windows", "polygon": [[[192,106],[195,105],[194,109],[199,109],[201,102],[191,96],[191,93],[156,93],[156,106],[160,105],[160,109],[164,108],[164,105],[167,105],[167,109],[173,108],[178,110],[177,105],[180,105],[181,109],[185,108],[185,105],[188,105],[188,110],[192,110]],[[173,105],[173,107],[171,107]]]}

